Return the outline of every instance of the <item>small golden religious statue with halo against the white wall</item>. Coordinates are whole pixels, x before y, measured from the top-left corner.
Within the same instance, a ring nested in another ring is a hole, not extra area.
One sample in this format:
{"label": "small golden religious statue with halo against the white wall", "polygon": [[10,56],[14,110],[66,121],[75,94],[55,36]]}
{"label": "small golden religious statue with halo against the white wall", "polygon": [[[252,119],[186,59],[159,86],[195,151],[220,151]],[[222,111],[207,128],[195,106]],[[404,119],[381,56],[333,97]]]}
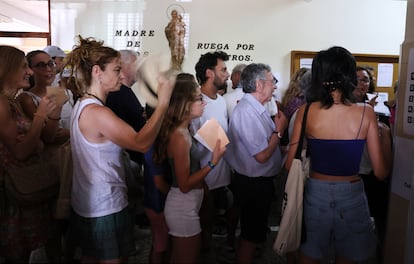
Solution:
{"label": "small golden religious statue with halo against the white wall", "polygon": [[165,36],[171,51],[171,65],[174,70],[181,70],[184,61],[185,47],[185,23],[177,10],[171,11],[171,20],[165,27]]}

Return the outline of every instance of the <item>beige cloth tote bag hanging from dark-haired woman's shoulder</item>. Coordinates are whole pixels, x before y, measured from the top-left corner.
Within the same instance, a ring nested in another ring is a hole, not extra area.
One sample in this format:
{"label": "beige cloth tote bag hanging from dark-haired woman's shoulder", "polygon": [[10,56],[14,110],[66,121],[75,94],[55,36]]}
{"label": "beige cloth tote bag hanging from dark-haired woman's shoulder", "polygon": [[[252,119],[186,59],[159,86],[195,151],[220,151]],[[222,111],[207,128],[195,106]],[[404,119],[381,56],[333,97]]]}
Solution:
{"label": "beige cloth tote bag hanging from dark-haired woman's shoulder", "polygon": [[306,157],[306,149],[303,149],[303,141],[309,105],[305,108],[298,149],[287,176],[282,203],[282,219],[273,244],[273,249],[281,256],[287,252],[296,251],[302,238],[303,190],[306,177],[309,175],[309,158]]}

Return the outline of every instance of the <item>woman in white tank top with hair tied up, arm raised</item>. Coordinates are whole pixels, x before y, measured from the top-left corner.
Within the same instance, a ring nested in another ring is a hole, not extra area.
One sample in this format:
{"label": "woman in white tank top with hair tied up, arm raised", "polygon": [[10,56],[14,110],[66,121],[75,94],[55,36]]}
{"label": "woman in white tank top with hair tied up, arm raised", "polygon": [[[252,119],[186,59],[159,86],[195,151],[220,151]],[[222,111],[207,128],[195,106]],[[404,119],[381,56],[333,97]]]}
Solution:
{"label": "woman in white tank top with hair tied up, arm raised", "polygon": [[82,75],[71,120],[73,183],[68,239],[82,249],[82,262],[126,262],[135,251],[133,217],[127,211],[123,149],[147,151],[158,134],[172,87],[159,78],[158,106],[139,133],[118,118],[105,100],[120,89],[120,53],[102,42],[79,37],[66,57],[73,74]]}

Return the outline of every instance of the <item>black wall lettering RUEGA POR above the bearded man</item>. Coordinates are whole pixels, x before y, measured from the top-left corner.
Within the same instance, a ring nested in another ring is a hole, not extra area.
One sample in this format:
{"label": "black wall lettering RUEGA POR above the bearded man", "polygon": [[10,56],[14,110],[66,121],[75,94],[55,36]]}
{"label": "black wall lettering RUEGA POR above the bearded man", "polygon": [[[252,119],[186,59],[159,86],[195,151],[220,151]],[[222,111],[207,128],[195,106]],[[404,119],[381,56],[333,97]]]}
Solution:
{"label": "black wall lettering RUEGA POR above the bearded man", "polygon": [[[197,43],[197,50],[217,50],[224,51],[230,56],[231,61],[252,61],[249,52],[254,51],[254,45],[248,43],[237,43],[230,45],[228,43]],[[230,51],[235,51],[233,54]],[[230,52],[230,53],[229,53]],[[247,53],[247,54],[245,54]]]}

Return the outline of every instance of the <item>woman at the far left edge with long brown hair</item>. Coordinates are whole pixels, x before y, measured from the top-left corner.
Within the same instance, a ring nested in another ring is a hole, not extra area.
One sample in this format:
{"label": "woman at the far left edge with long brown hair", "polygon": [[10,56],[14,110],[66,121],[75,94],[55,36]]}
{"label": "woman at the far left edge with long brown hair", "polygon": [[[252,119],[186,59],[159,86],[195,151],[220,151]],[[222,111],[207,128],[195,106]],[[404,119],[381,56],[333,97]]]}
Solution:
{"label": "woman at the far left edge with long brown hair", "polygon": [[30,252],[45,245],[49,262],[58,262],[51,242],[57,234],[52,201],[21,207],[7,201],[4,193],[5,169],[23,167],[43,153],[42,130],[58,110],[45,96],[39,100],[33,119],[27,118],[15,97],[18,90],[29,87],[33,71],[24,52],[17,48],[0,46],[0,58],[0,257],[5,263],[28,263]]}

